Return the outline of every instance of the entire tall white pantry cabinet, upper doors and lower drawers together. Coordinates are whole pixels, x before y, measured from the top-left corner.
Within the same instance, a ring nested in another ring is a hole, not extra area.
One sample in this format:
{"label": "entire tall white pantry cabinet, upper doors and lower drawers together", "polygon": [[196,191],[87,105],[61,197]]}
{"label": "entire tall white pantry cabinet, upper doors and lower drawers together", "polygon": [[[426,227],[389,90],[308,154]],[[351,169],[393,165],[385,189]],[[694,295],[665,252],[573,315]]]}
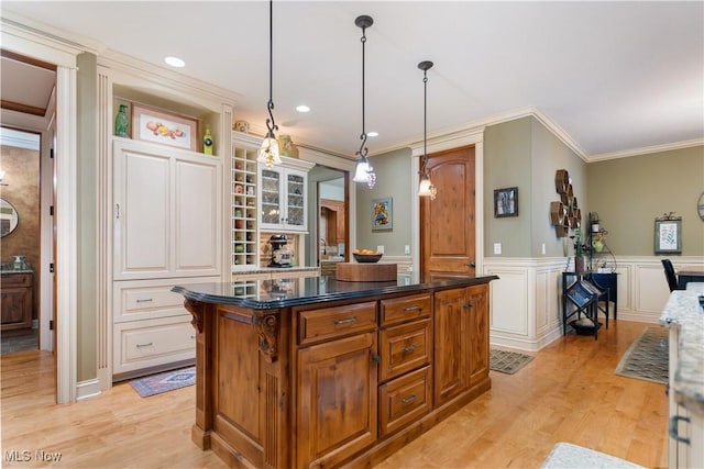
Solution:
{"label": "entire tall white pantry cabinet, upper doors and lower drawers together", "polygon": [[220,281],[221,161],[113,139],[112,380],[190,365],[195,332],[175,284]]}

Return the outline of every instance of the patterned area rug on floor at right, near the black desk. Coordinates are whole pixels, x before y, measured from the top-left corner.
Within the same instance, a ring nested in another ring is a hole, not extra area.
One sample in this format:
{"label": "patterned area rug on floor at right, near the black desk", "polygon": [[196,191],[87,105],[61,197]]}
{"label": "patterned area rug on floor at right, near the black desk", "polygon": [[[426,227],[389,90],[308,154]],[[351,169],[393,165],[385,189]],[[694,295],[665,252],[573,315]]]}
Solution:
{"label": "patterned area rug on floor at right, near the black desk", "polygon": [[668,334],[664,327],[647,327],[620,358],[615,373],[667,384]]}

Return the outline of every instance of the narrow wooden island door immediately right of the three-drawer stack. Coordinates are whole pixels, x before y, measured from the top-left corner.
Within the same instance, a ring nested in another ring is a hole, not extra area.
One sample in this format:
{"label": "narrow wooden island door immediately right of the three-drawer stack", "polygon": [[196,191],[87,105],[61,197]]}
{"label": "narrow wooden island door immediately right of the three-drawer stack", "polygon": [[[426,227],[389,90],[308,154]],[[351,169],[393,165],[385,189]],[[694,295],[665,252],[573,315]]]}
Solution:
{"label": "narrow wooden island door immediately right of the three-drawer stack", "polygon": [[468,314],[465,289],[436,293],[435,398],[442,405],[469,386]]}

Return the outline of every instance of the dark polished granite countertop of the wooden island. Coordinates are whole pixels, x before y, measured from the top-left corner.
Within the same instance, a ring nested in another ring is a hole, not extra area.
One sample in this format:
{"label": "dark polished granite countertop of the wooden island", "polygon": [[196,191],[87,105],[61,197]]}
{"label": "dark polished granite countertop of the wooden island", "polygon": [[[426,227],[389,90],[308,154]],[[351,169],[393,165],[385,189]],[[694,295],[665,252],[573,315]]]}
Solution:
{"label": "dark polished granite countertop of the wooden island", "polygon": [[388,293],[413,293],[431,289],[470,287],[496,280],[496,276],[453,278],[405,284],[389,282],[338,281],[334,277],[307,277],[277,280],[242,280],[221,283],[176,286],[172,289],[191,301],[231,304],[251,310],[275,310],[337,300],[359,300]]}

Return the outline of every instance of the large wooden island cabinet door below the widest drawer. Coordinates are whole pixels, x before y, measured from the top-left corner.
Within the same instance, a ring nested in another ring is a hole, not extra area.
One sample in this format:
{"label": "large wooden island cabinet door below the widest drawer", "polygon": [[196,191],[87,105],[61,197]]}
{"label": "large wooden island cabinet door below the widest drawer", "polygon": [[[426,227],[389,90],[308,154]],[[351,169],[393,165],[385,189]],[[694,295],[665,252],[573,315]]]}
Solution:
{"label": "large wooden island cabinet door below the widest drawer", "polygon": [[376,333],[301,349],[296,417],[298,467],[332,467],[377,435]]}

